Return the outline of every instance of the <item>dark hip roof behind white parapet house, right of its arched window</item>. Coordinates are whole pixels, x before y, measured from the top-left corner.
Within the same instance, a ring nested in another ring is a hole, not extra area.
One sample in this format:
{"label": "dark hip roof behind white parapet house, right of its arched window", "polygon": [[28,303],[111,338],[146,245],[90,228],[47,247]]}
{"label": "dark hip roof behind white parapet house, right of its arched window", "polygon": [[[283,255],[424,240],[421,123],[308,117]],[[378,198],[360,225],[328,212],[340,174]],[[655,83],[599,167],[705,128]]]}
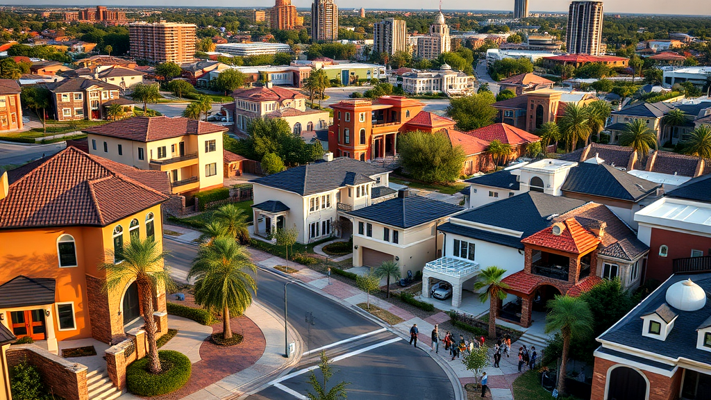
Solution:
{"label": "dark hip roof behind white parapet house, right of its arched window", "polygon": [[562,191],[591,194],[626,201],[638,201],[661,184],[621,172],[607,164],[582,162],[568,172]]}

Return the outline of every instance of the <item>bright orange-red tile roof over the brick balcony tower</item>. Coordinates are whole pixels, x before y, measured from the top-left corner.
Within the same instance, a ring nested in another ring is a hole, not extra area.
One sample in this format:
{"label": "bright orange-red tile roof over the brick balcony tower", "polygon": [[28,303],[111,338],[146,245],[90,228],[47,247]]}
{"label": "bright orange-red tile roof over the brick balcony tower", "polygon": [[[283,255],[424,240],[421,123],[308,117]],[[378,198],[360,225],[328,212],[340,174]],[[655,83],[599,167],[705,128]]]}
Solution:
{"label": "bright orange-red tile roof over the brick balcony tower", "polygon": [[575,219],[566,219],[562,224],[565,229],[562,230],[560,235],[553,233],[553,229],[557,228],[557,226],[549,226],[542,231],[533,233],[533,235],[528,236],[528,238],[524,238],[521,243],[533,244],[535,246],[552,248],[574,254],[585,253],[600,244],[600,240],[587,231],[587,229],[583,228]]}

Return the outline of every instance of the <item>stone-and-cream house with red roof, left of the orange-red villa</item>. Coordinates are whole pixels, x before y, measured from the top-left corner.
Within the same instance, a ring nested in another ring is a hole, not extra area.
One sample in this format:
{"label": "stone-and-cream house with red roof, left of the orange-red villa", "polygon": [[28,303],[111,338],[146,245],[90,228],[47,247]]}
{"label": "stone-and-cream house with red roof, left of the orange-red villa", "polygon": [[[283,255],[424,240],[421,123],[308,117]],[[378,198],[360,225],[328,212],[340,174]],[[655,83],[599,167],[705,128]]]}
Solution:
{"label": "stone-and-cream house with red roof, left of the orange-red villa", "polygon": [[328,111],[306,109],[306,96],[296,90],[266,85],[238,90],[235,98],[235,133],[247,133],[247,126],[255,118],[283,118],[295,135],[302,131],[328,127]]}

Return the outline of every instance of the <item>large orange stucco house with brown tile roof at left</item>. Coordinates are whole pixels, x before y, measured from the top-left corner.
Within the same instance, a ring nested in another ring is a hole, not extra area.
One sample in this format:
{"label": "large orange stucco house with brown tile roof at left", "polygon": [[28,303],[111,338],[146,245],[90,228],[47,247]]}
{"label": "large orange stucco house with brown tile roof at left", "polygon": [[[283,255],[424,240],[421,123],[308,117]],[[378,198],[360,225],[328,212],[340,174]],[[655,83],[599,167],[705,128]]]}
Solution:
{"label": "large orange stucco house with brown tile roof at left", "polygon": [[[141,317],[138,290],[130,281],[103,290],[97,265],[135,237],[162,248],[161,204],[170,190],[165,172],[75,147],[0,171],[0,324],[55,353],[64,340],[122,340]],[[154,295],[166,331],[164,288]]]}

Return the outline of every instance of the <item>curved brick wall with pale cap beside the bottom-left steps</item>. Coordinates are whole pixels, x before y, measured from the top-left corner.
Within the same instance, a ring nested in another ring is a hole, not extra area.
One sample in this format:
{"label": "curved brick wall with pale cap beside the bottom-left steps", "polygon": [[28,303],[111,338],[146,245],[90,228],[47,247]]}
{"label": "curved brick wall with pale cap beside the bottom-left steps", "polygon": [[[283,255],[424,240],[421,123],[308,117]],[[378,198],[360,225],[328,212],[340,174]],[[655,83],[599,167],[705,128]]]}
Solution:
{"label": "curved brick wall with pale cap beside the bottom-left steps", "polygon": [[9,367],[27,362],[38,369],[42,380],[65,400],[88,400],[87,367],[70,362],[34,344],[18,344],[7,350]]}

